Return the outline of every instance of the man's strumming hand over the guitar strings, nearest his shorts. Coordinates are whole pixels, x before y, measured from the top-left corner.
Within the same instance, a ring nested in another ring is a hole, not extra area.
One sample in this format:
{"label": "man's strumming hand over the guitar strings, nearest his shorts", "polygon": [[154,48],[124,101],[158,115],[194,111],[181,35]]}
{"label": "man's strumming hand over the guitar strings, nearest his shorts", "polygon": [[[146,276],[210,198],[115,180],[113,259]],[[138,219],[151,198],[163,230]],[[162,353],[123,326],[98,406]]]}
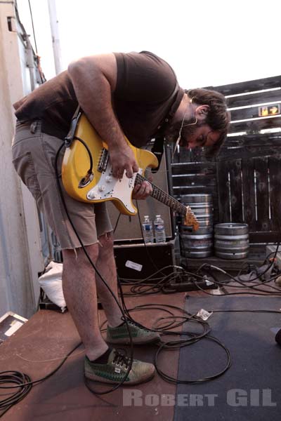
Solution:
{"label": "man's strumming hand over the guitar strings, nearest his shorts", "polygon": [[138,172],[138,164],[129,145],[122,145],[122,147],[117,148],[111,147],[109,152],[113,177],[122,178],[124,171],[126,171],[126,176],[131,178],[133,173]]}

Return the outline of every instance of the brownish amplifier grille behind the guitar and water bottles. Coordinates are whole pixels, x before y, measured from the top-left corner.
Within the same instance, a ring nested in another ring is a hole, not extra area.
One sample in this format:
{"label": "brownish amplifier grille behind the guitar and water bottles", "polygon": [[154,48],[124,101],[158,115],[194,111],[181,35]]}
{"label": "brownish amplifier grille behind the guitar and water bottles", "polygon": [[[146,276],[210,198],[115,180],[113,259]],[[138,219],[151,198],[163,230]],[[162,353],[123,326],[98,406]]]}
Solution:
{"label": "brownish amplifier grille behind the guitar and water bottles", "polygon": [[[152,182],[164,190],[164,192],[171,194],[171,166],[169,165],[169,156],[170,149],[169,147],[165,147],[160,168],[157,173],[152,174]],[[174,212],[168,206],[152,197],[148,197],[146,200],[138,200],[139,215],[133,217],[128,215],[119,216],[119,211],[112,202],[107,203],[107,208],[110,213],[112,227],[115,228],[117,224],[115,243],[126,243],[128,241],[136,243],[143,241],[141,222],[143,221],[144,215],[150,215],[150,220],[152,221],[155,220],[155,215],[161,215],[165,223],[166,238],[168,240],[174,238],[176,229]]]}

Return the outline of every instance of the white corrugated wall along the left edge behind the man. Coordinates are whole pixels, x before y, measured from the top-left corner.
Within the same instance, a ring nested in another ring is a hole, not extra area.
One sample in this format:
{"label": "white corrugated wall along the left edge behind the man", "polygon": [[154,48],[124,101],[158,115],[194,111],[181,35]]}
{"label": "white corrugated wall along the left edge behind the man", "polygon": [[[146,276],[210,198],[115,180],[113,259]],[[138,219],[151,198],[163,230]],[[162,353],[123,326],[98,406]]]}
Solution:
{"label": "white corrugated wall along the left edge behind the man", "polygon": [[39,293],[43,266],[34,199],[22,189],[11,156],[15,119],[12,104],[30,90],[24,44],[8,31],[13,4],[0,4],[0,316],[11,310],[30,317]]}

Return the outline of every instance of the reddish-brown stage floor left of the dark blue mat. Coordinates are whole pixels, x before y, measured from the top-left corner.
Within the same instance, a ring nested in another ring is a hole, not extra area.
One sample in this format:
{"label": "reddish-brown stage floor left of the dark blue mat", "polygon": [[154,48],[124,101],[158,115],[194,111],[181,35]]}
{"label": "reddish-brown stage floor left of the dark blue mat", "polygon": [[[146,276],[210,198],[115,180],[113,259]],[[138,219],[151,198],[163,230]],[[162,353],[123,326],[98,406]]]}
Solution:
{"label": "reddish-brown stage floor left of the dark blue mat", "polygon": [[[126,298],[126,305],[131,308],[150,302],[183,308],[184,299],[185,293],[129,297]],[[166,313],[150,309],[133,312],[132,316],[136,321],[151,327],[157,317],[166,316]],[[100,321],[103,321],[102,311]],[[30,375],[32,380],[37,380],[54,370],[61,361],[58,357],[65,356],[78,343],[79,336],[69,312],[61,314],[40,310],[0,346],[0,371],[18,370]],[[152,362],[157,347],[149,345],[134,349],[134,358]],[[176,386],[162,380],[159,375],[156,374],[153,380],[143,385],[121,387],[110,394],[95,396],[84,385],[83,363],[84,349],[80,346],[57,373],[34,385],[31,392],[8,410],[1,420],[57,421],[63,418],[67,421],[137,421],[152,420],[155,416],[162,421],[174,419],[174,406],[129,406],[129,391],[132,389],[137,389],[139,396],[176,394]],[[159,363],[165,372],[176,376],[178,351],[163,352]],[[103,385],[95,387],[105,389]]]}

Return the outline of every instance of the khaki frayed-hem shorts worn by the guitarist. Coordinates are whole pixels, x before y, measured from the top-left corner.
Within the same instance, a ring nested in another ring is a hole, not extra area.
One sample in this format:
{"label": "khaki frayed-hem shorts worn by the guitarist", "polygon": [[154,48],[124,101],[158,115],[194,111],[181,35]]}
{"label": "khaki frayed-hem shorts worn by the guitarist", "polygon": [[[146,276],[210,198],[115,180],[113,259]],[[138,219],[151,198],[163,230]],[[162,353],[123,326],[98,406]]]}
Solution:
{"label": "khaki frayed-hem shorts worn by the guitarist", "polygon": [[[63,140],[41,132],[41,123],[17,123],[13,139],[13,165],[44,213],[61,248],[78,248],[81,244],[65,213],[55,179],[55,155]],[[98,242],[98,237],[112,231],[106,203],[83,203],[72,199],[61,182],[61,164],[65,147],[58,158],[60,185],[72,223],[84,246]]]}

